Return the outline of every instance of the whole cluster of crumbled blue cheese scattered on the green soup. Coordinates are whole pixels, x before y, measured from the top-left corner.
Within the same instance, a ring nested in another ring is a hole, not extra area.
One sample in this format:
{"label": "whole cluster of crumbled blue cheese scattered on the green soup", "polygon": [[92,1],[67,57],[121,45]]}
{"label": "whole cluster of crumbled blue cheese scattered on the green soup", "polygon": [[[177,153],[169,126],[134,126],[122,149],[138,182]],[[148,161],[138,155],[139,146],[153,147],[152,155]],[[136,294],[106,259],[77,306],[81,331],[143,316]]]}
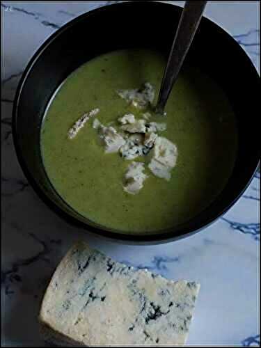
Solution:
{"label": "whole cluster of crumbled blue cheese scattered on the green soup", "polygon": [[[140,109],[152,104],[155,97],[155,90],[148,82],[143,84],[141,88],[118,90],[117,93],[129,104]],[[79,118],[68,132],[69,139],[73,139],[88,119],[99,111],[100,109],[93,109]],[[133,160],[136,157],[148,155],[153,148],[148,168],[155,176],[168,181],[171,180],[171,170],[177,161],[177,147],[163,136],[158,136],[157,132],[166,130],[166,123],[148,122],[151,116],[150,112],[143,111],[142,118],[137,120],[133,113],[125,113],[118,118],[122,134],[111,126],[116,125],[115,121],[110,122],[105,127],[100,120],[95,118],[93,128],[98,130],[106,153],[119,152],[122,158]],[[127,193],[136,194],[142,189],[143,182],[148,177],[143,173],[144,166],[145,164],[134,161],[128,166],[123,185],[123,189]]]}

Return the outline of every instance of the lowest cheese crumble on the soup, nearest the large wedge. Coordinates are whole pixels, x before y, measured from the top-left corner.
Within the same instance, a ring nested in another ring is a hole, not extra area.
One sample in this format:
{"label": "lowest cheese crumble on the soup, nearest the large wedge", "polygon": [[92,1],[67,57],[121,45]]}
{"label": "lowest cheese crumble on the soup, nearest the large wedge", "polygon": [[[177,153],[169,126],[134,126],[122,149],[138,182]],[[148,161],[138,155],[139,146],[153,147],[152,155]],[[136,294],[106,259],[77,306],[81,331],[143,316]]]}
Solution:
{"label": "lowest cheese crumble on the soup, nearest the large wedge", "polygon": [[143,182],[148,175],[143,173],[144,164],[141,162],[132,162],[125,173],[124,191],[130,194],[136,194],[143,188]]}

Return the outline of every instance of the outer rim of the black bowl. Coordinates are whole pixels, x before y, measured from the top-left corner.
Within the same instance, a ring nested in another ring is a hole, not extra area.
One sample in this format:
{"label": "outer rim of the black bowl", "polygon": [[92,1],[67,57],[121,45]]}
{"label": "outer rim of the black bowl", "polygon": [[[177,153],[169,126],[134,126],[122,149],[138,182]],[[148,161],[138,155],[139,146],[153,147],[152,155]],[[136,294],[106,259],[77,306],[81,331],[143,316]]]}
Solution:
{"label": "outer rim of the black bowl", "polygon": [[[174,7],[174,8],[176,8],[176,10],[182,9],[182,7],[180,7],[180,6],[177,6],[177,5],[174,5],[171,3],[163,3],[161,1],[124,1],[124,2],[120,2],[120,3],[112,3],[112,4],[109,4],[107,6],[102,6],[102,7],[90,10],[86,13],[82,13],[81,15],[75,17],[74,19],[70,20],[69,22],[63,24],[63,26],[61,26],[61,28],[56,30],[51,35],[49,35],[49,37],[44,42],[42,42],[42,45],[40,45],[40,47],[36,50],[36,52],[33,54],[33,56],[31,56],[31,59],[29,60],[29,62],[26,64],[26,68],[24,69],[24,72],[22,73],[22,77],[19,80],[16,92],[15,92],[15,99],[14,99],[13,111],[12,111],[13,144],[15,147],[15,152],[17,155],[17,160],[19,162],[19,165],[21,166],[22,171],[23,171],[26,179],[28,180],[29,184],[31,184],[31,187],[33,187],[33,190],[35,191],[35,193],[37,193],[38,197],[45,203],[45,205],[47,205],[47,207],[49,207],[49,209],[51,209],[53,212],[55,212],[58,216],[60,216],[67,223],[70,223],[71,226],[81,228],[83,231],[86,230],[87,232],[93,233],[94,235],[102,236],[105,239],[109,239],[109,240],[113,239],[115,242],[123,242],[124,244],[136,244],[136,245],[163,244],[163,243],[173,242],[173,241],[180,240],[180,239],[183,239],[185,237],[189,237],[191,235],[194,235],[197,232],[200,232],[200,230],[203,230],[203,228],[207,228],[207,226],[211,225],[212,223],[214,223],[214,221],[216,221],[221,216],[223,216],[223,214],[228,212],[230,207],[232,207],[232,205],[234,205],[235,202],[242,196],[244,191],[246,191],[249,184],[253,180],[253,177],[255,177],[255,173],[258,170],[258,168],[260,167],[260,159],[258,159],[255,170],[253,171],[253,174],[249,178],[248,182],[245,184],[244,188],[239,193],[237,193],[237,196],[235,196],[235,198],[233,200],[231,200],[230,203],[228,205],[226,205],[226,207],[221,209],[219,214],[216,214],[216,216],[214,218],[213,218],[213,216],[206,217],[203,222],[201,221],[200,223],[198,223],[197,228],[190,228],[190,230],[188,232],[186,232],[185,230],[181,230],[181,232],[180,232],[180,230],[178,230],[178,231],[175,230],[175,233],[178,233],[176,235],[173,235],[173,232],[171,232],[171,230],[172,230],[171,228],[168,229],[167,232],[163,232],[163,233],[153,233],[152,232],[152,234],[147,234],[147,235],[139,235],[139,234],[131,235],[131,234],[127,234],[127,233],[122,234],[122,233],[118,233],[118,232],[111,232],[109,230],[105,230],[102,228],[95,228],[94,226],[88,225],[88,223],[84,223],[82,221],[79,221],[79,219],[71,216],[70,214],[65,212],[65,210],[63,210],[61,207],[58,207],[58,205],[56,205],[56,203],[54,203],[54,201],[51,200],[47,196],[47,194],[41,189],[40,185],[38,184],[37,180],[34,179],[33,175],[31,175],[29,168],[26,165],[26,161],[24,159],[24,156],[23,156],[22,147],[19,145],[19,141],[17,139],[19,131],[17,129],[16,120],[17,120],[17,110],[18,110],[18,106],[19,106],[19,97],[22,94],[23,86],[26,82],[27,77],[29,76],[29,73],[31,72],[31,69],[33,68],[34,64],[38,61],[38,58],[41,56],[42,52],[44,52],[45,49],[47,49],[47,47],[54,40],[56,40],[58,35],[61,35],[61,33],[63,33],[63,31],[67,30],[70,26],[73,26],[75,23],[79,22],[80,20],[88,19],[88,17],[95,15],[96,13],[99,13],[101,11],[106,11],[107,8],[111,8],[111,7],[121,8],[122,6],[137,6],[137,4],[139,4],[139,3],[143,3],[143,5],[145,4],[145,6],[165,6],[165,7],[168,6],[171,8]],[[212,26],[215,26],[216,29],[221,31],[223,34],[228,35],[228,37],[230,38],[230,40],[232,42],[237,42],[235,40],[235,38],[233,38],[225,29],[223,29],[221,26],[219,26],[219,24],[216,24],[215,22],[213,22],[211,19],[209,19],[207,17],[203,17],[203,20],[209,22],[209,24],[211,24]],[[244,51],[244,49],[238,43],[237,43],[237,45],[242,50],[242,54],[245,54],[246,58],[248,58],[249,65],[252,65],[252,68],[255,69],[255,66],[252,63],[251,58],[248,56],[248,54]],[[255,71],[256,71],[256,69],[255,69]],[[257,73],[257,77],[258,77],[258,72],[256,71],[256,73]],[[205,209],[204,209],[204,211],[205,211]],[[191,220],[193,220],[193,219],[191,219]],[[105,226],[104,226],[104,228],[105,228]],[[172,233],[172,235],[171,235],[171,233]]]}

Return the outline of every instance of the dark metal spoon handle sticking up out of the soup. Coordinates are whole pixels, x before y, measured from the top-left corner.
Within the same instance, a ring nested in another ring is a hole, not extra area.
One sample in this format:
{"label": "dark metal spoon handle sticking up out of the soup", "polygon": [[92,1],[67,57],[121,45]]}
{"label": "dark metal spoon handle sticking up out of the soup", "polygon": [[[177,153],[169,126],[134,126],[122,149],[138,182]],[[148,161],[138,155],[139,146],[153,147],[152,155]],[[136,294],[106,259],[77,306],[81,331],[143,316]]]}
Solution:
{"label": "dark metal spoon handle sticking up out of the soup", "polygon": [[171,47],[171,53],[168,56],[168,63],[161,82],[159,97],[156,106],[156,112],[164,114],[164,107],[171,93],[173,84],[177,80],[193,37],[198,29],[198,24],[203,15],[207,1],[186,1],[177,26],[177,32]]}

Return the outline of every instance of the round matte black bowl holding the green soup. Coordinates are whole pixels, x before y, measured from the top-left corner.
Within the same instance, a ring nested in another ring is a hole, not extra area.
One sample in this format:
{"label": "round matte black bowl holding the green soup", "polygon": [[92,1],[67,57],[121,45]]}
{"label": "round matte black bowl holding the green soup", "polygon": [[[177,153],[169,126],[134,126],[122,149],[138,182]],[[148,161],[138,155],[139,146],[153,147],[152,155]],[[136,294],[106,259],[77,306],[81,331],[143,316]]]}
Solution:
{"label": "round matte black bowl holding the green soup", "polygon": [[187,223],[157,235],[125,235],[88,221],[67,205],[49,182],[40,155],[40,127],[56,88],[79,65],[114,49],[153,48],[167,55],[181,11],[180,7],[154,1],[116,3],[90,11],[48,38],[24,71],[13,108],[17,157],[40,198],[74,226],[136,244],[156,244],[187,237],[226,212],[248,187],[258,168],[258,73],[237,42],[203,18],[186,63],[198,65],[225,90],[237,117],[239,133],[235,168],[216,200]]}

